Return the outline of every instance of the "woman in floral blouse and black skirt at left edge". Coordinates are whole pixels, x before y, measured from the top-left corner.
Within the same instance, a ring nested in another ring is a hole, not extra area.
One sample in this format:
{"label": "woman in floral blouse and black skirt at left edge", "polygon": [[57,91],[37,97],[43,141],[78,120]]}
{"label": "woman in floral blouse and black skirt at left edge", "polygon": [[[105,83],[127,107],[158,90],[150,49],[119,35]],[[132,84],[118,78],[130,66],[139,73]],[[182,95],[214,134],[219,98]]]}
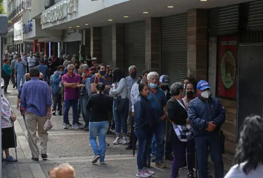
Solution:
{"label": "woman in floral blouse and black skirt at left edge", "polygon": [[17,139],[14,132],[13,123],[16,121],[15,114],[11,111],[11,107],[7,99],[4,97],[4,85],[1,84],[1,128],[2,128],[2,150],[5,152],[4,161],[17,162],[9,154],[9,148],[15,148]]}

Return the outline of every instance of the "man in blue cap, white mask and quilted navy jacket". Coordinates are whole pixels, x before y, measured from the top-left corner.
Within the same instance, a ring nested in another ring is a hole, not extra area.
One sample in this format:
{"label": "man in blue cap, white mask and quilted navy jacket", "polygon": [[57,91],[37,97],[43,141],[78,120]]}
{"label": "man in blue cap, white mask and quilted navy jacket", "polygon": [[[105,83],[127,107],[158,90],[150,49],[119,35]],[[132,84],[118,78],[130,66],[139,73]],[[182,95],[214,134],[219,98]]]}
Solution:
{"label": "man in blue cap, white mask and quilted navy jacket", "polygon": [[219,98],[211,96],[207,81],[198,82],[197,93],[198,97],[189,103],[188,118],[193,128],[199,178],[207,178],[208,153],[214,162],[215,177],[224,178],[219,132],[225,122],[225,108]]}

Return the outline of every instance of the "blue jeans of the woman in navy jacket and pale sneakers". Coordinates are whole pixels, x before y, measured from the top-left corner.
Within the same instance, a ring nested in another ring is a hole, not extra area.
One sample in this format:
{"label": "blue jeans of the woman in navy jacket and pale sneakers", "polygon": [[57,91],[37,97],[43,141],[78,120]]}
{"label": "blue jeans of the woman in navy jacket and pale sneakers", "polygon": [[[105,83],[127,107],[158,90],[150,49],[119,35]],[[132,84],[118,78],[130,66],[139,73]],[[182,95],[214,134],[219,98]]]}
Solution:
{"label": "blue jeans of the woman in navy jacket and pale sneakers", "polygon": [[147,156],[151,152],[152,131],[135,128],[134,132],[138,138],[137,166],[138,170],[141,171],[146,167]]}

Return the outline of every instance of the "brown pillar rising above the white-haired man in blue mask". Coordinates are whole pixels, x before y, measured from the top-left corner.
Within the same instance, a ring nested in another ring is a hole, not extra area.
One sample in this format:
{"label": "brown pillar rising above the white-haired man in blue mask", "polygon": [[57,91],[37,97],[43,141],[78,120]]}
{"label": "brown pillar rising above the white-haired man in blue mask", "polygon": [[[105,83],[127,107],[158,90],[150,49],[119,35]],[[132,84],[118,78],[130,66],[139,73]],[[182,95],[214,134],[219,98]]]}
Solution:
{"label": "brown pillar rising above the white-haired man in blue mask", "polygon": [[145,70],[160,73],[161,18],[148,18],[145,22]]}

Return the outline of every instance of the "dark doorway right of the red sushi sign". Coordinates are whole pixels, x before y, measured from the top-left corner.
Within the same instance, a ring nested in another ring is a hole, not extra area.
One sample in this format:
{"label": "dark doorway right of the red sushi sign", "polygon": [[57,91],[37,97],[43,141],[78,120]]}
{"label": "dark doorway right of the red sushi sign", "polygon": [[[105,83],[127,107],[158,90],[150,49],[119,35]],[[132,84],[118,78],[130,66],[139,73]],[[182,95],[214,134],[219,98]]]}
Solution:
{"label": "dark doorway right of the red sushi sign", "polygon": [[263,44],[241,44],[239,52],[238,137],[246,116],[263,116]]}

